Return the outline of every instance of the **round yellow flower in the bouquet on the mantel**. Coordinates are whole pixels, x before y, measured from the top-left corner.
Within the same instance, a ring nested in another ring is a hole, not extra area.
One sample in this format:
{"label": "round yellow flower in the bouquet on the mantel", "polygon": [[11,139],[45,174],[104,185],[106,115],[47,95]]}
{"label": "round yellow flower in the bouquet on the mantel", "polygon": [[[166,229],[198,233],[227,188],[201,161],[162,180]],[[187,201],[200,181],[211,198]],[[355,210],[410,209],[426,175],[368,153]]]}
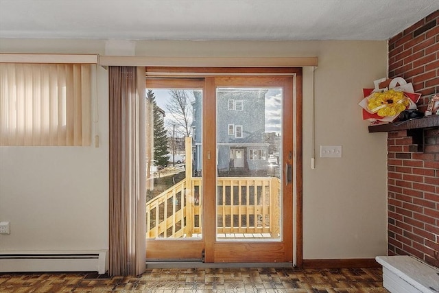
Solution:
{"label": "round yellow flower in the bouquet on the mantel", "polygon": [[382,93],[373,93],[368,102],[368,109],[378,116],[387,117],[398,115],[410,105],[410,100],[402,91],[393,89]]}

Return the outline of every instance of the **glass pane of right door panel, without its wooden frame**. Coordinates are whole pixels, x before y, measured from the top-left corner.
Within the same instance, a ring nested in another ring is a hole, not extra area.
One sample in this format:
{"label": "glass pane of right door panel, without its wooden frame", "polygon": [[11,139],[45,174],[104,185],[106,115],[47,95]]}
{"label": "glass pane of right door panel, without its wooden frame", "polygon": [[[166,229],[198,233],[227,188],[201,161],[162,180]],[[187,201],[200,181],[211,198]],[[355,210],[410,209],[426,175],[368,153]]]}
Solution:
{"label": "glass pane of right door panel, without its wooden frame", "polygon": [[217,87],[216,240],[282,239],[282,88]]}

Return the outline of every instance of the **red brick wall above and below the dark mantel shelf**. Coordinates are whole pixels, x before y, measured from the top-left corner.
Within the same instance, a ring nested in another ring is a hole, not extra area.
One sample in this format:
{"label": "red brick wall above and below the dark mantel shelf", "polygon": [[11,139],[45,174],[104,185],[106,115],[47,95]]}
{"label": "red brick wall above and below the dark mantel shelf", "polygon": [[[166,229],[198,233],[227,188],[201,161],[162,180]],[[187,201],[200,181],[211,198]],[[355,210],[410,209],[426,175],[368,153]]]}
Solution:
{"label": "red brick wall above and below the dark mantel shelf", "polygon": [[[397,76],[423,94],[425,111],[439,93],[439,10],[389,40],[389,78]],[[439,128],[423,141],[412,130],[388,134],[388,233],[389,255],[439,266]]]}

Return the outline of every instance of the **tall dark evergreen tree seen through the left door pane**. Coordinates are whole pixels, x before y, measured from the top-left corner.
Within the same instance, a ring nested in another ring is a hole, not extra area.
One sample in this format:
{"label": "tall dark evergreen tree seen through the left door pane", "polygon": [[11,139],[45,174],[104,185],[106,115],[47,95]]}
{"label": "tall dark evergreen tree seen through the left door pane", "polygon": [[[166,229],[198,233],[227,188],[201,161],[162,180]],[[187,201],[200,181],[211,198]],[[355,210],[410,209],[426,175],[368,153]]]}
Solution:
{"label": "tall dark evergreen tree seen through the left door pane", "polygon": [[154,114],[154,161],[158,166],[167,165],[167,130],[165,129],[165,121],[161,109],[157,106],[156,97],[152,90],[148,90],[146,98],[153,105]]}

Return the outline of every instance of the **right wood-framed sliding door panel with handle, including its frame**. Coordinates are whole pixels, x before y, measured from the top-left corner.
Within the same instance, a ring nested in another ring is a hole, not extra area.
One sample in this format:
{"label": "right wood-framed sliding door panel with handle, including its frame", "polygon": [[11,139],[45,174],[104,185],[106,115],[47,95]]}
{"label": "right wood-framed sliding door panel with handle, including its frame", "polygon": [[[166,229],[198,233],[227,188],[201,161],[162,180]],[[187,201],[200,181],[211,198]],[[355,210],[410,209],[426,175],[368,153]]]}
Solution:
{"label": "right wood-framed sliding door panel with handle, including its frame", "polygon": [[215,143],[204,145],[216,153],[206,161],[216,172],[204,190],[214,196],[206,209],[215,215],[205,222],[206,233],[214,230],[213,242],[206,239],[209,261],[293,261],[293,80],[215,77]]}

